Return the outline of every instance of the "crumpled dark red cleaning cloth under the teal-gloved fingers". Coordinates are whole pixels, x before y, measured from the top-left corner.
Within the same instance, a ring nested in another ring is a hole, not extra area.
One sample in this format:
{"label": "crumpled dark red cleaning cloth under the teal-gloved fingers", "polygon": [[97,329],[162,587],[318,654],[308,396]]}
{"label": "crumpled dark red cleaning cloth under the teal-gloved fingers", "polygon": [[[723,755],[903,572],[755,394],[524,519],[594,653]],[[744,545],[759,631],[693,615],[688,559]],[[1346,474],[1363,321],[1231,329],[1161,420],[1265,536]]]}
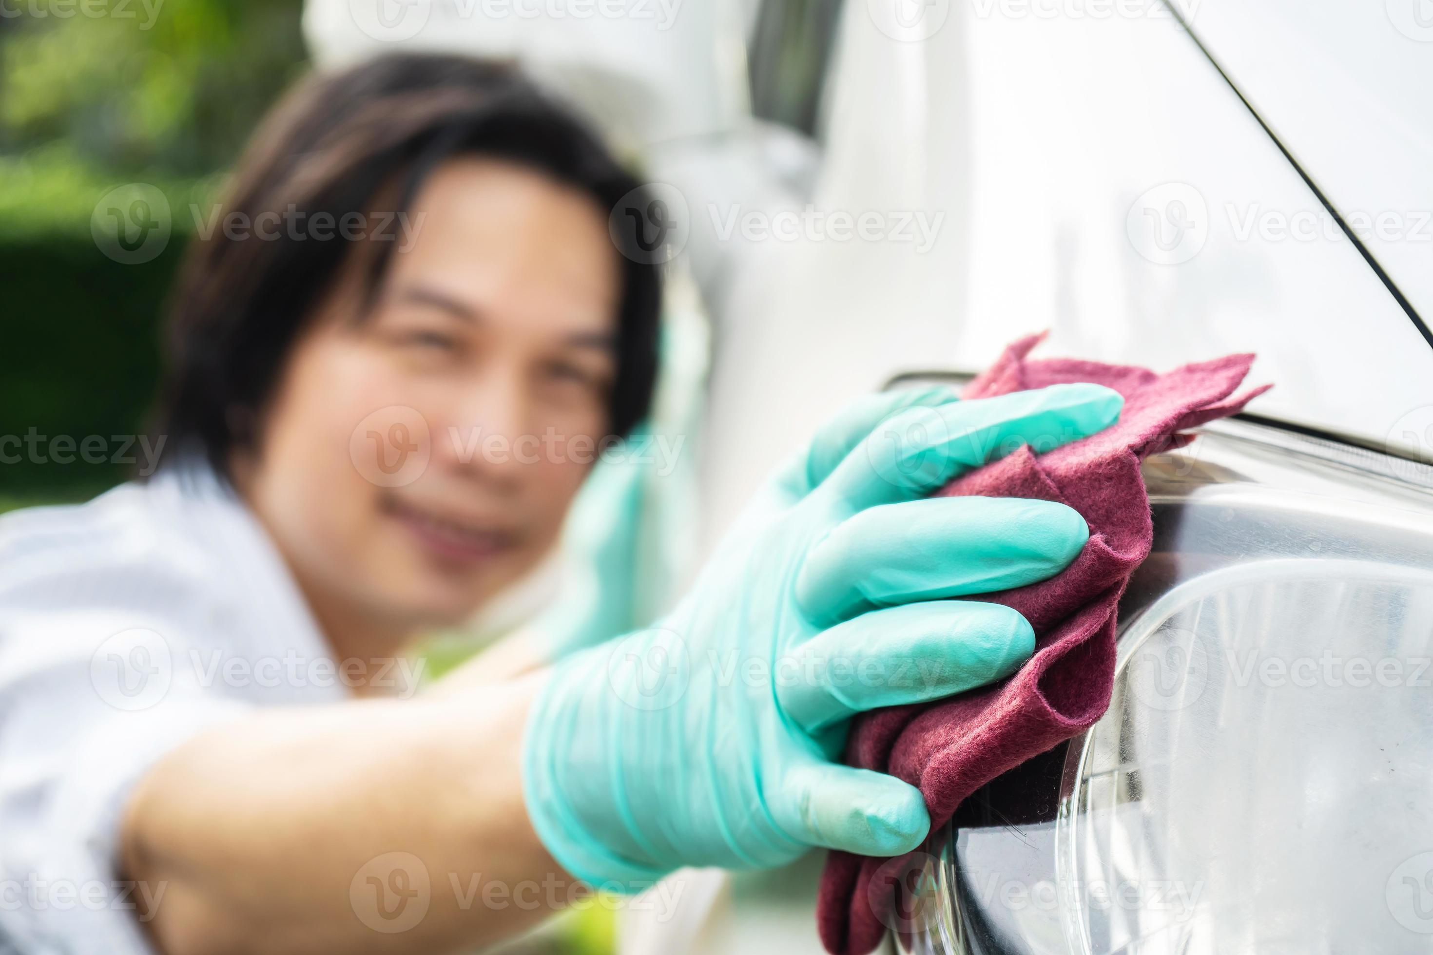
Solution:
{"label": "crumpled dark red cleaning cloth under the teal-gloved fingers", "polygon": [[[845,760],[919,787],[931,830],[963,799],[996,776],[1095,723],[1115,679],[1115,610],[1135,567],[1149,554],[1154,525],[1139,461],[1192,441],[1179,434],[1235,414],[1268,385],[1230,398],[1254,355],[1228,355],[1158,375],[1146,368],[1091,361],[1026,361],[1043,335],[1012,344],[964,389],[989,398],[1026,388],[1091,381],[1125,397],[1105,431],[1036,457],[1022,445],[972,471],[941,495],[982,494],[1060,501],[1089,524],[1089,541],[1056,577],[983,600],[1015,607],[1036,634],[1035,656],[1010,679],[934,704],[897,706],[858,717]],[[897,911],[903,876],[919,853],[866,859],[831,852],[817,902],[821,941],[833,955],[866,955]]]}

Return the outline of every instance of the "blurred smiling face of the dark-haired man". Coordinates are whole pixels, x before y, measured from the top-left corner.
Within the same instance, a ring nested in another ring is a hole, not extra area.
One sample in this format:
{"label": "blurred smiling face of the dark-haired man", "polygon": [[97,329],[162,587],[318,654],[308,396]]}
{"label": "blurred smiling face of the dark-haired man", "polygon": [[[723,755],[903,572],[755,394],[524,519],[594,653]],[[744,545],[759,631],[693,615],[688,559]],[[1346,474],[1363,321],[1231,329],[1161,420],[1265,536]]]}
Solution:
{"label": "blurred smiling face of the dark-haired man", "polygon": [[530,570],[608,425],[605,210],[454,159],[407,215],[373,314],[345,269],[235,468],[330,636],[457,623]]}

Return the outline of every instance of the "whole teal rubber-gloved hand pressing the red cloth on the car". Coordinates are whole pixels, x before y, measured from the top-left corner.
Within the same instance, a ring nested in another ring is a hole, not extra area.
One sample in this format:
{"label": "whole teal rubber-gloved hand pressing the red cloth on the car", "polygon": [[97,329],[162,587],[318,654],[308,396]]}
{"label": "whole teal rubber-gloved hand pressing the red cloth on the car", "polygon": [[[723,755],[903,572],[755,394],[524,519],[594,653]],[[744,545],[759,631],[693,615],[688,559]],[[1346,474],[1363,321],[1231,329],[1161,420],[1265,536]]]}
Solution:
{"label": "whole teal rubber-gloved hand pressing the red cloth on the car", "polygon": [[1122,405],[1098,385],[933,389],[874,395],[827,425],[671,616],[552,673],[523,740],[543,845],[573,875],[632,889],[684,865],[919,846],[920,792],[834,762],[847,720],[1015,672],[1030,624],[953,598],[1050,577],[1089,534],[1060,504],[926,495],[1019,444],[1093,434]]}

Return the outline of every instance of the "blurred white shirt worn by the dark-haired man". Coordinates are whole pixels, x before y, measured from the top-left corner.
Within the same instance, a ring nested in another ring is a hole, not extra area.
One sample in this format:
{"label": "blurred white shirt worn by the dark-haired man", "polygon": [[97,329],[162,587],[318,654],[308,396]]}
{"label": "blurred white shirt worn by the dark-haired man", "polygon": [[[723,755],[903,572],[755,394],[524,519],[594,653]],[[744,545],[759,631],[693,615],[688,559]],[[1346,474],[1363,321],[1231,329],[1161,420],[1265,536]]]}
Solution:
{"label": "blurred white shirt worn by the dark-haired man", "polygon": [[[0,952],[148,954],[119,819],[159,757],[348,697],[262,527],[208,468],[0,517]],[[162,896],[158,896],[162,902]]]}

